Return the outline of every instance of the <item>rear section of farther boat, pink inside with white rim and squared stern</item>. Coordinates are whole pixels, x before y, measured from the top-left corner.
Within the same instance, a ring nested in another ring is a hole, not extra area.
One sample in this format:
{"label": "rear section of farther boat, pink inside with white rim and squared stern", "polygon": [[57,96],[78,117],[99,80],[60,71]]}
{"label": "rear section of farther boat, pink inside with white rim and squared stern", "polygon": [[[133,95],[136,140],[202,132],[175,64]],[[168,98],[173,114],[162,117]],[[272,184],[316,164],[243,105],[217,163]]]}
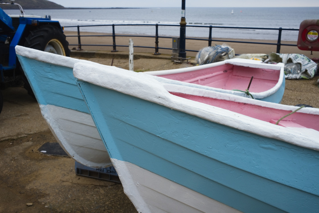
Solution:
{"label": "rear section of farther boat, pink inside with white rim and squared stern", "polygon": [[[221,62],[175,70],[143,72],[159,76],[157,80],[172,84],[229,93],[257,100],[280,103],[285,90],[284,64],[233,58]],[[252,96],[242,92],[249,86]],[[240,91],[238,91],[240,90]]]}

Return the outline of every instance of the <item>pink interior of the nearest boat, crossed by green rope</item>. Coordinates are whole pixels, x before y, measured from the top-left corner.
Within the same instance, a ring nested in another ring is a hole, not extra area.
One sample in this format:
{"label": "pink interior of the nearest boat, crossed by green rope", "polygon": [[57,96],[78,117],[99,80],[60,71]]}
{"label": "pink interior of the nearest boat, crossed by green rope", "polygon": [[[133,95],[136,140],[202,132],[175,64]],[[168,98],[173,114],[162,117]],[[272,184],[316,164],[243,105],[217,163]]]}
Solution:
{"label": "pink interior of the nearest boat, crossed by green rope", "polygon": [[[264,107],[259,105],[254,105],[250,103],[240,103],[228,100],[222,100],[217,98],[203,97],[197,95],[189,95],[183,93],[170,92],[172,95],[176,95],[189,100],[197,101],[200,103],[209,104],[211,106],[216,106],[226,110],[240,113],[252,118],[263,120],[272,124],[291,113],[290,110],[279,110],[270,107]],[[319,131],[319,115],[295,112],[292,115],[280,120],[278,126],[285,127],[299,127],[299,128],[310,128]]]}

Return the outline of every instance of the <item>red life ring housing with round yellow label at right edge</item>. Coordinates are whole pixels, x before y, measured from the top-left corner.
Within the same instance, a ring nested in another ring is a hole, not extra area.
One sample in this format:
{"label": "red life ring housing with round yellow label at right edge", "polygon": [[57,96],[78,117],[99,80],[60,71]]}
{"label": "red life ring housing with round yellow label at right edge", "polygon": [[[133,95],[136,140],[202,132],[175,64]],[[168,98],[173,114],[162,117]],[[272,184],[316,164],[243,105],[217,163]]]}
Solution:
{"label": "red life ring housing with round yellow label at right edge", "polygon": [[319,19],[307,19],[299,27],[297,47],[301,50],[319,51]]}

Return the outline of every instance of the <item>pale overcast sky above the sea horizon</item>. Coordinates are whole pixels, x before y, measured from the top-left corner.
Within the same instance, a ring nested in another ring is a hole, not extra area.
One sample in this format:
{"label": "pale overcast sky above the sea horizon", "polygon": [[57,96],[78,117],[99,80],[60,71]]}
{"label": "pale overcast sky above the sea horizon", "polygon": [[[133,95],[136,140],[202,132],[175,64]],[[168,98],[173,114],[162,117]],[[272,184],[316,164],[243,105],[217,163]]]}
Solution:
{"label": "pale overcast sky above the sea horizon", "polygon": [[[181,0],[49,0],[64,7],[182,7]],[[319,7],[319,0],[185,0],[187,7]]]}

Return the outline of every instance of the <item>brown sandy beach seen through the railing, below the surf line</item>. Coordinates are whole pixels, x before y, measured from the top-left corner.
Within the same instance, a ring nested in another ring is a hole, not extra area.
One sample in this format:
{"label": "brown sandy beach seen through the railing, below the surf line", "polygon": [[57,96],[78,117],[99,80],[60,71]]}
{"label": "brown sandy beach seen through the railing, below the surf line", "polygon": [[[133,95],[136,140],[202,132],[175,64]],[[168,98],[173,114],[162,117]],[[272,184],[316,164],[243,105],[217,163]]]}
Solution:
{"label": "brown sandy beach seen through the railing, below the surf line", "polygon": [[[73,31],[64,31],[67,37],[67,40],[70,44],[69,48],[78,49],[78,37],[77,32]],[[111,35],[111,34],[103,34],[103,33],[91,33],[91,32],[81,32],[81,44],[82,49],[84,50],[101,50],[101,51],[111,51],[113,50],[113,38],[112,36],[96,36],[96,35]],[[87,35],[95,35],[87,36]],[[76,36],[76,37],[73,37]],[[160,35],[159,35],[160,36]],[[128,47],[121,47],[121,46],[128,46],[129,39],[133,39],[134,46],[142,46],[142,47],[154,47],[154,48],[134,48],[134,52],[143,52],[143,53],[154,53],[155,52],[155,38],[150,37],[134,37],[130,35],[125,36],[116,36],[115,43],[118,45],[116,50],[119,52],[128,52]],[[230,41],[231,39],[222,39],[222,38],[212,38],[214,40],[225,40]],[[239,42],[263,42],[263,43],[277,43],[277,41],[268,41],[268,40],[243,40],[243,39],[233,39]],[[277,46],[276,45],[266,45],[266,44],[247,44],[247,43],[234,43],[234,42],[214,42],[212,41],[212,45],[221,45],[226,43],[228,46],[234,49],[235,54],[269,54],[271,52],[276,52]],[[297,42],[293,41],[282,41],[282,44],[297,44]],[[111,45],[111,46],[85,46],[85,45]],[[199,50],[201,48],[208,46],[208,41],[198,41],[198,40],[186,40],[186,49],[189,50]],[[172,48],[172,39],[171,38],[159,38],[159,48]],[[172,50],[168,49],[159,49],[159,53],[161,54],[172,54]],[[281,46],[280,53],[298,53],[303,54],[310,59],[312,58],[319,58],[319,52],[313,52],[311,55],[310,51],[300,50],[297,47],[292,46]],[[186,57],[195,57],[197,52],[186,52]]]}

